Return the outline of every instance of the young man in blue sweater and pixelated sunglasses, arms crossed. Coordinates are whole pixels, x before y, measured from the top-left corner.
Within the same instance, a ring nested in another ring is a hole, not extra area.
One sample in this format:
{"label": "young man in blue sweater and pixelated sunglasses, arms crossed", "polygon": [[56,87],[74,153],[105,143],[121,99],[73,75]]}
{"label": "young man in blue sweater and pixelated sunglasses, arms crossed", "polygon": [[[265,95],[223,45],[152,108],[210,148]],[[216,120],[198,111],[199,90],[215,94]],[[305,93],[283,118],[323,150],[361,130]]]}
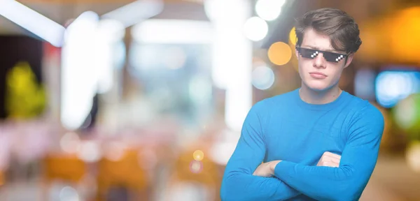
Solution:
{"label": "young man in blue sweater and pixelated sunglasses, arms crossed", "polygon": [[[362,43],[342,10],[311,10],[297,20],[302,85],[251,108],[225,169],[228,200],[358,200],[377,162],[384,118],[339,89]],[[263,163],[262,163],[263,162]]]}

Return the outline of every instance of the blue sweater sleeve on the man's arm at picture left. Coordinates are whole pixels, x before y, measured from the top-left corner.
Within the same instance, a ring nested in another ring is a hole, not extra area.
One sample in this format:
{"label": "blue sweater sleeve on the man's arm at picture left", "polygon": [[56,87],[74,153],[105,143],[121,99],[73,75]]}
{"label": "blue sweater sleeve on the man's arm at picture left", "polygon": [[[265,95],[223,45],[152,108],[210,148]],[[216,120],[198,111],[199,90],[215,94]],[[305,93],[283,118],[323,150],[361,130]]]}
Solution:
{"label": "blue sweater sleeve on the man's arm at picture left", "polygon": [[248,112],[221,185],[221,200],[287,200],[300,193],[275,177],[253,176],[265,157],[262,121],[265,105],[256,103]]}

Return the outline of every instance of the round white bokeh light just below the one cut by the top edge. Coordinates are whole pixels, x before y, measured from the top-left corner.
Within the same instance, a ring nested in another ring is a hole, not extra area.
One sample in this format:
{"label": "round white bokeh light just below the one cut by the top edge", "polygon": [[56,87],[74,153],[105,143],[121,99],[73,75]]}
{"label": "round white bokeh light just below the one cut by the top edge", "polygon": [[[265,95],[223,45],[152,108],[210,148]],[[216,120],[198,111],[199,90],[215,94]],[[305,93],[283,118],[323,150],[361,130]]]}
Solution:
{"label": "round white bokeh light just below the one cut by the top edge", "polygon": [[244,24],[244,34],[246,38],[259,41],[265,38],[268,33],[268,25],[260,17],[251,17]]}

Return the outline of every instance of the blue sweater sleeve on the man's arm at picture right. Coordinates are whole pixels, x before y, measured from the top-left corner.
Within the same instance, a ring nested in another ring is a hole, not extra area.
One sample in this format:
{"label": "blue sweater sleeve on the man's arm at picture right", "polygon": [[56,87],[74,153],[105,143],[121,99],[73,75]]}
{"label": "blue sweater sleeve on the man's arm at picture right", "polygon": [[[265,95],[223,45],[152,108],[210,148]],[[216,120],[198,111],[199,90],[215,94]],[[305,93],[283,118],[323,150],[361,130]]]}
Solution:
{"label": "blue sweater sleeve on the man's arm at picture right", "polygon": [[358,200],[377,163],[383,131],[384,117],[370,105],[349,124],[349,137],[339,168],[281,161],[274,174],[316,200]]}

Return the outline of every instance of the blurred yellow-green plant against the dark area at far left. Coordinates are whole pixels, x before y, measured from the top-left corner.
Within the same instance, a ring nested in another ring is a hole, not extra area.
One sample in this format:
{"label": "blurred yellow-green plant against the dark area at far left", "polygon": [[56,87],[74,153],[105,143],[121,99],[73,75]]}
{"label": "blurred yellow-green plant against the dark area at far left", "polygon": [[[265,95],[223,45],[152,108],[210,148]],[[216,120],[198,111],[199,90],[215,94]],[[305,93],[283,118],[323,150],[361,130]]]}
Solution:
{"label": "blurred yellow-green plant against the dark area at far left", "polygon": [[8,118],[29,119],[45,109],[45,87],[36,82],[27,62],[20,61],[6,75],[6,111]]}

